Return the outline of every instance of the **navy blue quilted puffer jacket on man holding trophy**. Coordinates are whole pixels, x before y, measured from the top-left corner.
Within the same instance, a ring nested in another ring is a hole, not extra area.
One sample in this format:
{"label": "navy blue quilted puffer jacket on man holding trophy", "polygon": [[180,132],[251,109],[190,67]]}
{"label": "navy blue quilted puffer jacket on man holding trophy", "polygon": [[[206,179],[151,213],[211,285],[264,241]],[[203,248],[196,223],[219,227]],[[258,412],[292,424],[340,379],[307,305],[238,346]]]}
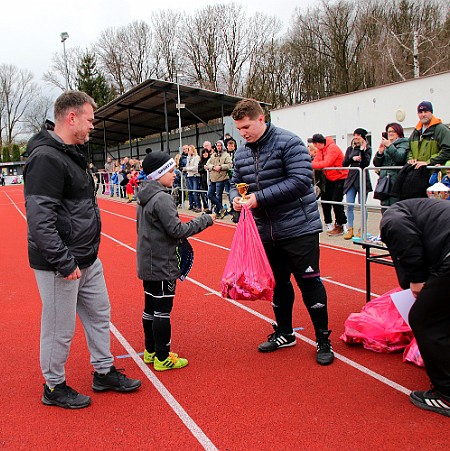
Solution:
{"label": "navy blue quilted puffer jacket on man holding trophy", "polygon": [[[293,133],[270,124],[256,143],[239,147],[232,181],[247,183],[255,193],[252,213],[263,243],[322,231],[311,157]],[[238,195],[233,185],[231,199]]]}

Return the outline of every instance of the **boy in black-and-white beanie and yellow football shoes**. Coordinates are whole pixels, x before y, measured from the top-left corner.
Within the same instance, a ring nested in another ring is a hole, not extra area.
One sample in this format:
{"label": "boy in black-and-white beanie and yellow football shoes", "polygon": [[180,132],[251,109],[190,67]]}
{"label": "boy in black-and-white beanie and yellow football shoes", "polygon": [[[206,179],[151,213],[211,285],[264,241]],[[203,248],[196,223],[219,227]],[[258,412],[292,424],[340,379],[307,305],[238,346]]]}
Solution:
{"label": "boy in black-and-white beanie and yellow football shoes", "polygon": [[213,225],[216,216],[205,214],[181,222],[168,191],[175,180],[175,161],[169,154],[149,152],[142,169],[147,181],[137,194],[137,272],[145,294],[144,362],[153,363],[156,371],[166,371],[188,364],[187,359],[170,352],[170,313],[180,277],[178,246],[183,238]]}

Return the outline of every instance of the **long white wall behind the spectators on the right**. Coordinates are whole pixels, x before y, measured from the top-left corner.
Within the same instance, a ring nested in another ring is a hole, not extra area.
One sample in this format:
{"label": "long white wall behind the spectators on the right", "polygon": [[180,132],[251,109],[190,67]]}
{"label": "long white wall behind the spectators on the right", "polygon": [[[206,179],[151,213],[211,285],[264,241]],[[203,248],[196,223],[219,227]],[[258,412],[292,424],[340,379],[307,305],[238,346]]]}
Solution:
{"label": "long white wall behind the spectators on the right", "polygon": [[400,123],[409,136],[418,122],[417,105],[433,104],[434,115],[450,124],[450,72],[365,89],[315,102],[271,111],[272,122],[299,135],[303,141],[314,133],[333,136],[345,151],[355,128],[365,128],[376,150],[389,122]]}

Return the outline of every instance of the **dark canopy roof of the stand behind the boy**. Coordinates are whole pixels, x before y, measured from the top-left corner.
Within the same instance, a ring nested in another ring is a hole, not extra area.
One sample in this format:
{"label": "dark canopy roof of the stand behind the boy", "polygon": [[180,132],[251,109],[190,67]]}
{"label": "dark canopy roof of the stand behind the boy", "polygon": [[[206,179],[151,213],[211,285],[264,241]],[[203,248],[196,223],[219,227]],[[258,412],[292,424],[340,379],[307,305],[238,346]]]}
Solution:
{"label": "dark canopy roof of the stand behind the boy", "polygon": [[[178,103],[178,96],[180,103]],[[242,97],[148,79],[95,112],[90,141],[116,144],[229,116]],[[261,103],[262,106],[266,104]],[[168,139],[168,138],[167,138]]]}

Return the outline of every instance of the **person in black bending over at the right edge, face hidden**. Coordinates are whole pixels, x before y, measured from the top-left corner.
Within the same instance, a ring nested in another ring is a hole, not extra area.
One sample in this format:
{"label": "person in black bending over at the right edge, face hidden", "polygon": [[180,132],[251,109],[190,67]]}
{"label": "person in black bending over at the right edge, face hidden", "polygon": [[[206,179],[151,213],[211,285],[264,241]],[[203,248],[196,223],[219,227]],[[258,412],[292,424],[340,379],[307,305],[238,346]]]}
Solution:
{"label": "person in black bending over at the right edge, face hidden", "polygon": [[431,380],[413,391],[421,409],[450,416],[450,202],[408,199],[389,207],[381,220],[400,286],[416,301],[409,323]]}

